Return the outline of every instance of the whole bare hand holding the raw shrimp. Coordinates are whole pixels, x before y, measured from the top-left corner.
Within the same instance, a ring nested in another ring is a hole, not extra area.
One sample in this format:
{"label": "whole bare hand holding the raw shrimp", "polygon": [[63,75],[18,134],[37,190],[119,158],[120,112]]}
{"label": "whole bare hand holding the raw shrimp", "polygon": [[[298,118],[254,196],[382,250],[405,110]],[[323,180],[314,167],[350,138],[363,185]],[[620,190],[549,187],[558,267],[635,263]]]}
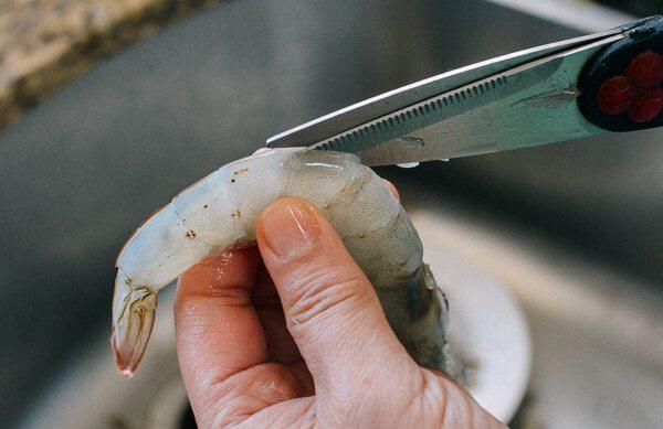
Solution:
{"label": "whole bare hand holding the raw shrimp", "polygon": [[314,206],[280,199],[255,228],[257,247],[179,280],[177,350],[199,427],[505,427],[408,355]]}

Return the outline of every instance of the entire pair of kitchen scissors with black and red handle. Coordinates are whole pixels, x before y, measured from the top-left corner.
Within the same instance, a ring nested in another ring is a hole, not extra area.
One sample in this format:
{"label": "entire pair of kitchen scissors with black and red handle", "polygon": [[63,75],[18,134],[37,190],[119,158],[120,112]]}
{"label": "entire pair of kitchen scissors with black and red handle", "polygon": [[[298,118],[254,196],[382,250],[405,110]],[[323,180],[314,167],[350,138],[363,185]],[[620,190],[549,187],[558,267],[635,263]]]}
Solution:
{"label": "entire pair of kitchen scissors with black and red handle", "polygon": [[276,135],[267,147],[407,167],[655,128],[662,83],[656,15],[429,77]]}

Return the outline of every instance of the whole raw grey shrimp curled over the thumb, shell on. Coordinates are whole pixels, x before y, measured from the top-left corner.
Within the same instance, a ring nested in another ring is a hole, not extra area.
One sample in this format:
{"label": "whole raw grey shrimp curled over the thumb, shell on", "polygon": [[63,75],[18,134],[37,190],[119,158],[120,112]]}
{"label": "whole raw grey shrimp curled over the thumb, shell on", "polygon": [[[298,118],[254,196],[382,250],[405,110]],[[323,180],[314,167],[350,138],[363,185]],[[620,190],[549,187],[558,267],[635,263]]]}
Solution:
{"label": "whole raw grey shrimp curled over the thumb, shell on", "polygon": [[281,196],[305,199],[332,222],[410,355],[461,376],[446,342],[446,300],[400,202],[357,157],[305,149],[221,167],[138,227],[116,264],[110,341],[118,369],[130,376],[140,363],[158,290],[209,254],[252,244],[259,212]]}

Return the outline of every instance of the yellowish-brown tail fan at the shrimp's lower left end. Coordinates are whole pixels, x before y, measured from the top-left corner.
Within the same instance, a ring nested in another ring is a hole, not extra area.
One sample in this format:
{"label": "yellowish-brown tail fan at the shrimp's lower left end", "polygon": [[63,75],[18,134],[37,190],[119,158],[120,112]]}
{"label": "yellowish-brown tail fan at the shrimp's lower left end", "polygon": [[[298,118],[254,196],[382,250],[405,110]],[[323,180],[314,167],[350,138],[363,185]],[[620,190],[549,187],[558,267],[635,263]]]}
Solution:
{"label": "yellowish-brown tail fan at the shrimp's lower left end", "polygon": [[110,346],[117,371],[130,378],[143,360],[155,324],[157,292],[135,288],[118,274],[113,299]]}

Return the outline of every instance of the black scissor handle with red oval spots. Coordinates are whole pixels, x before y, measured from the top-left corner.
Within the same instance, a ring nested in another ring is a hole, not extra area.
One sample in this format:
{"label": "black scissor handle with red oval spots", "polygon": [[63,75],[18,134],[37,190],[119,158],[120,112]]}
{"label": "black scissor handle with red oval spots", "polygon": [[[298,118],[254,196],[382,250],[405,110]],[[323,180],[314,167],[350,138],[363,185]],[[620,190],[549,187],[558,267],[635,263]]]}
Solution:
{"label": "black scissor handle with red oval spots", "polygon": [[663,126],[663,17],[636,22],[583,67],[580,111],[609,131]]}

